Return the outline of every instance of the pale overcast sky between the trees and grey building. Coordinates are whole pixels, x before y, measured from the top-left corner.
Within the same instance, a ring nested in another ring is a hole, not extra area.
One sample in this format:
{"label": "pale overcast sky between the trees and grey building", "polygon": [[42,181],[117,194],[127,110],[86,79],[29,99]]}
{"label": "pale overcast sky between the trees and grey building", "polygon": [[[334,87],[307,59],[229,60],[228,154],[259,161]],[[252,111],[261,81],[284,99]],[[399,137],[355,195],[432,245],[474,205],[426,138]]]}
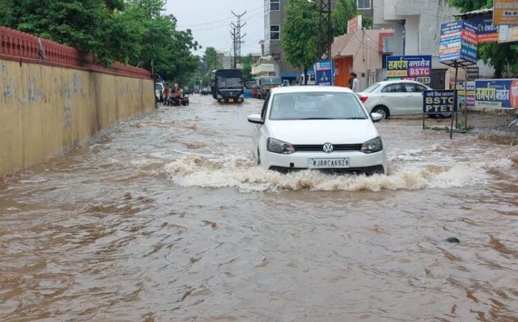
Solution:
{"label": "pale overcast sky between the trees and grey building", "polygon": [[264,37],[264,0],[167,0],[166,13],[178,19],[178,29],[193,30],[194,38],[203,46],[198,52],[202,55],[206,47],[217,50],[230,50],[230,23],[236,23],[231,10],[240,15],[247,10],[242,21],[247,25],[241,33],[247,33],[241,54],[260,53],[258,42]]}

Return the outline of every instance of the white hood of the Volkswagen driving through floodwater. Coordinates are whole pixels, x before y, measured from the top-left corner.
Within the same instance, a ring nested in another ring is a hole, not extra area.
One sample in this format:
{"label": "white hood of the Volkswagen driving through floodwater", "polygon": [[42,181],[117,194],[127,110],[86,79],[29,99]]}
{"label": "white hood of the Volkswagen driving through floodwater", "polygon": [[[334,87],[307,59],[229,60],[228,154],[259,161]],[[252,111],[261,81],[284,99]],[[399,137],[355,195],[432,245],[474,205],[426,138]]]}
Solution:
{"label": "white hood of the Volkswagen driving through floodwater", "polygon": [[269,121],[271,138],[291,144],[359,144],[378,136],[371,120]]}

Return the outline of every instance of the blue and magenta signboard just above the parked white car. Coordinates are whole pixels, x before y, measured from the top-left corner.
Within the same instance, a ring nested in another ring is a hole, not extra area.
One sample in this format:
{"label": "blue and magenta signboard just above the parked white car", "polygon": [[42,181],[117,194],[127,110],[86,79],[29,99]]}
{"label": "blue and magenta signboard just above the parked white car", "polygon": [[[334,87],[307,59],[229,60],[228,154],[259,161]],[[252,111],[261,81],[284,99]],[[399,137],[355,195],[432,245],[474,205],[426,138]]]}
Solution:
{"label": "blue and magenta signboard just above the parked white car", "polygon": [[432,56],[387,57],[387,79],[410,79],[432,84]]}

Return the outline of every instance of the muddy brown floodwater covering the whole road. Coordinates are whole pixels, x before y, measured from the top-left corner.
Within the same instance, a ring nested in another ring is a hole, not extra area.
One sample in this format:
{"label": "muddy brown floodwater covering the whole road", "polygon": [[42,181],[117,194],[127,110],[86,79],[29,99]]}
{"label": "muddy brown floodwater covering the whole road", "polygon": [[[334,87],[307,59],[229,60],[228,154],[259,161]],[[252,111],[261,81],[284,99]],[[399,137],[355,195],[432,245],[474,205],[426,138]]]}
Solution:
{"label": "muddy brown floodwater covering the whole road", "polygon": [[195,96],[0,181],[0,321],[518,321],[506,138],[390,120],[388,176],[281,175],[260,107]]}

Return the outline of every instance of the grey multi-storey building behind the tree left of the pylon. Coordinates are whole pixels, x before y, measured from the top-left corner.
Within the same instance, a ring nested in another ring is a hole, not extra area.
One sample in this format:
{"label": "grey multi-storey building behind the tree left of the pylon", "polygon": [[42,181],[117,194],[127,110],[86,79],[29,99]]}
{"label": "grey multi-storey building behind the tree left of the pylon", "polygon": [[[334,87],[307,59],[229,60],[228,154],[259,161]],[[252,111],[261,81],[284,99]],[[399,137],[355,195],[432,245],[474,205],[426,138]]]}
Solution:
{"label": "grey multi-storey building behind the tree left of the pylon", "polygon": [[[332,6],[336,6],[337,0],[332,0]],[[374,0],[356,0],[358,12],[369,17],[373,16]],[[285,59],[280,46],[282,26],[286,19],[285,6],[289,0],[265,0],[265,39],[262,44],[263,55],[270,57],[274,65],[276,75],[282,79],[295,81],[300,76],[302,70],[294,68]]]}

